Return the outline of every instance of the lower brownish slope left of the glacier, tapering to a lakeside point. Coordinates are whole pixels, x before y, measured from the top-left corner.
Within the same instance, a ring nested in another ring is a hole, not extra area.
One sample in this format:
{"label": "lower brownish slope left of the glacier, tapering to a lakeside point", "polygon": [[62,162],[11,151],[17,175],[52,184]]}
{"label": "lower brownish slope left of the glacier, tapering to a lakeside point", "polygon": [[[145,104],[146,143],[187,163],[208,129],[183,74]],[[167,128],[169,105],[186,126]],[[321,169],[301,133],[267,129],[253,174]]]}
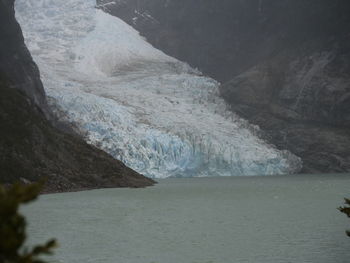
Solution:
{"label": "lower brownish slope left of the glacier, tapering to a lakeside point", "polygon": [[0,93],[1,182],[48,177],[49,191],[153,184],[82,139],[52,127],[21,91],[0,84]]}

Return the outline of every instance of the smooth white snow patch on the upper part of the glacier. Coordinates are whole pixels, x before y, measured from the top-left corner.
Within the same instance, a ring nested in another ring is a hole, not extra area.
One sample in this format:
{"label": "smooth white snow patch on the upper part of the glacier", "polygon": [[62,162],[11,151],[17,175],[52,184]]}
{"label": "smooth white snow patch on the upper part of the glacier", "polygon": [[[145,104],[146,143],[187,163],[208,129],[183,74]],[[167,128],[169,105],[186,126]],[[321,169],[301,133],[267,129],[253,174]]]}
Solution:
{"label": "smooth white snow patch on the upper part of the glacier", "polygon": [[139,61],[176,61],[153,48],[132,27],[102,10],[96,10],[95,20],[95,29],[73,50],[76,69],[81,73],[112,76],[118,69]]}

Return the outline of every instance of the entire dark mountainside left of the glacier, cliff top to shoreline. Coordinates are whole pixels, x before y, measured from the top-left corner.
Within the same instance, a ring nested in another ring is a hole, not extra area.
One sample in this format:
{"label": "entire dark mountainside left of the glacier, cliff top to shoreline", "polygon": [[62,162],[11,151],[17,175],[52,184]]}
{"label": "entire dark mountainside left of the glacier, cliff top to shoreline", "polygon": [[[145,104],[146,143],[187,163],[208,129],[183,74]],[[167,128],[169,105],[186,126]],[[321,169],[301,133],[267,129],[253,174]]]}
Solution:
{"label": "entire dark mountainside left of the glacier, cliff top to shoreline", "polygon": [[47,120],[39,71],[24,45],[13,1],[0,0],[0,21],[0,183],[46,177],[50,192],[153,185]]}

